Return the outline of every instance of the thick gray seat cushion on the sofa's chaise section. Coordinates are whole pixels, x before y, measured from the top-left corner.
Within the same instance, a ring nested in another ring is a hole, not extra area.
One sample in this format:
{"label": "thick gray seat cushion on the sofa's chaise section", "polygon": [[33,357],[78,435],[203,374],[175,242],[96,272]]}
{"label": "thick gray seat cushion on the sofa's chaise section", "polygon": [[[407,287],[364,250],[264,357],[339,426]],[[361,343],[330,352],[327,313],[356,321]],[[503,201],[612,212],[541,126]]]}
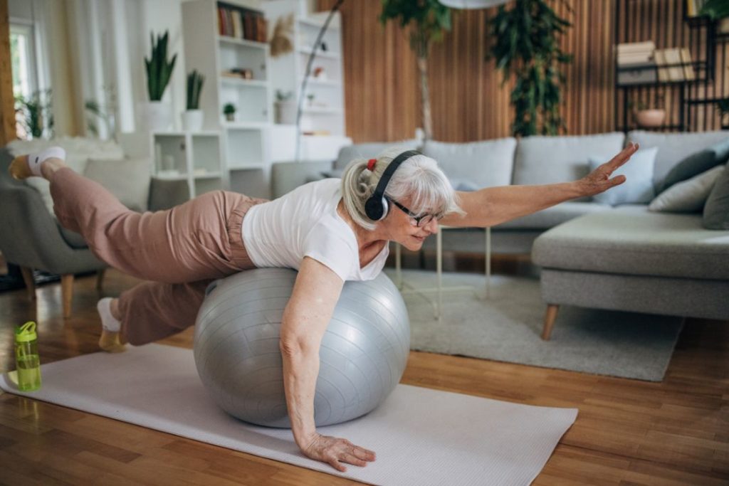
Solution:
{"label": "thick gray seat cushion on the sofa's chaise section", "polygon": [[542,233],[534,241],[532,260],[561,270],[725,279],[729,231],[703,229],[699,215],[625,205]]}

